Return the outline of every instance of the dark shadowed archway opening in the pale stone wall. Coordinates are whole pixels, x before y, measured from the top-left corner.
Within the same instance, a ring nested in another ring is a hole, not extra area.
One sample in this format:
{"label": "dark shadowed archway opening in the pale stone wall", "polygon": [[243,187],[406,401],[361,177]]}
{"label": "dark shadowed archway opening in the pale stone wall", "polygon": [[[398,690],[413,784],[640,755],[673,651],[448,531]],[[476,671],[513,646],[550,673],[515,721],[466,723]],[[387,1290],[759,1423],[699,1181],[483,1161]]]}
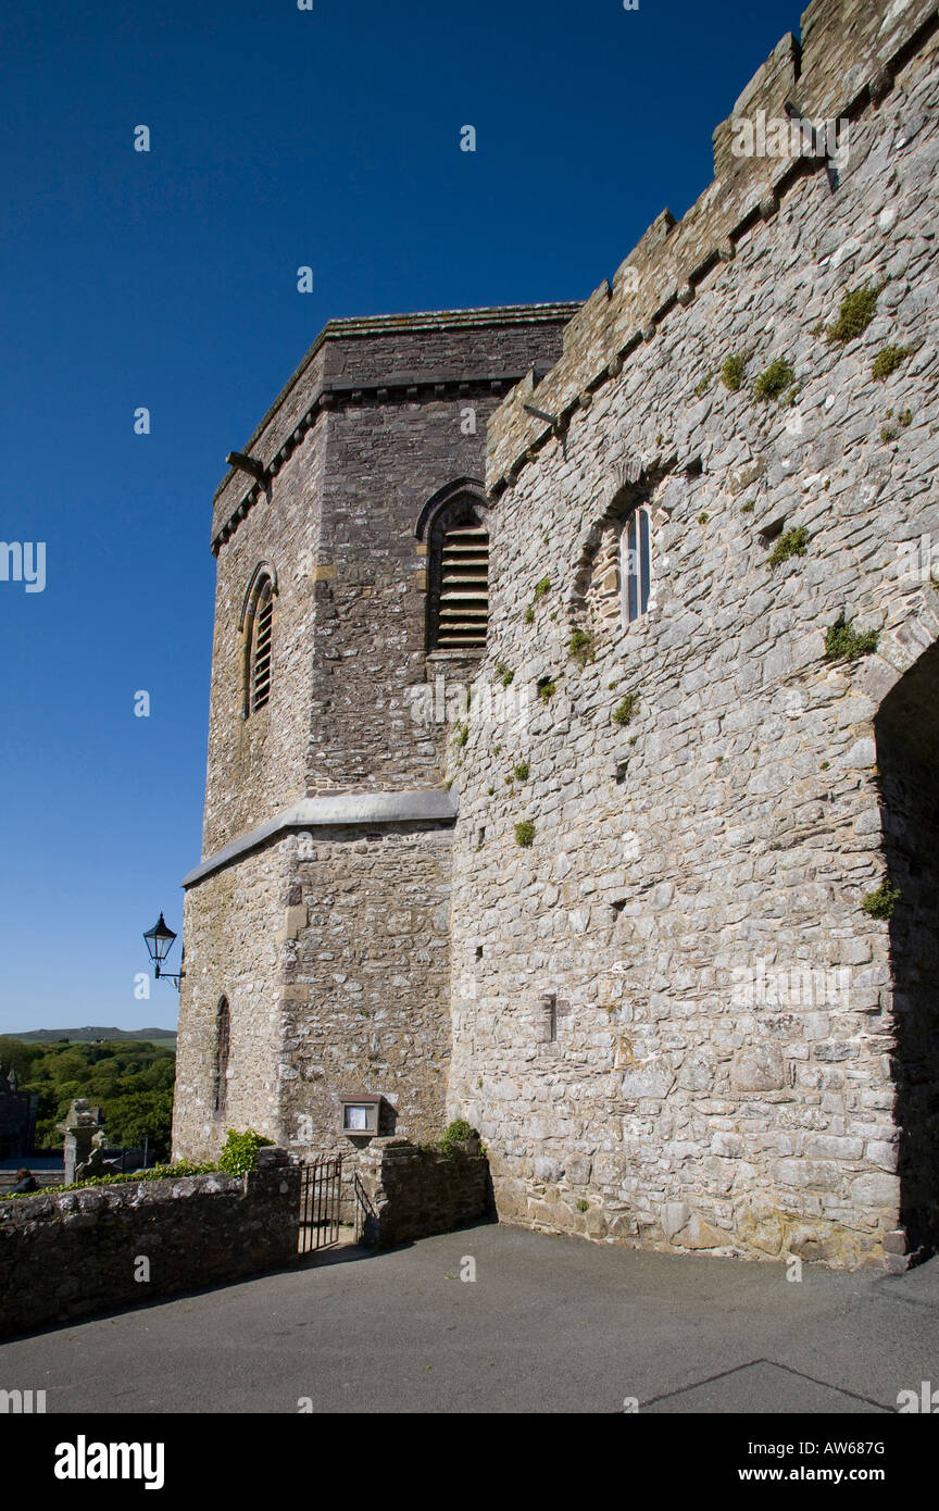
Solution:
{"label": "dark shadowed archway opening in the pale stone wall", "polygon": [[907,1251],[939,1250],[939,645],[876,721],[894,973],[900,1221]]}

